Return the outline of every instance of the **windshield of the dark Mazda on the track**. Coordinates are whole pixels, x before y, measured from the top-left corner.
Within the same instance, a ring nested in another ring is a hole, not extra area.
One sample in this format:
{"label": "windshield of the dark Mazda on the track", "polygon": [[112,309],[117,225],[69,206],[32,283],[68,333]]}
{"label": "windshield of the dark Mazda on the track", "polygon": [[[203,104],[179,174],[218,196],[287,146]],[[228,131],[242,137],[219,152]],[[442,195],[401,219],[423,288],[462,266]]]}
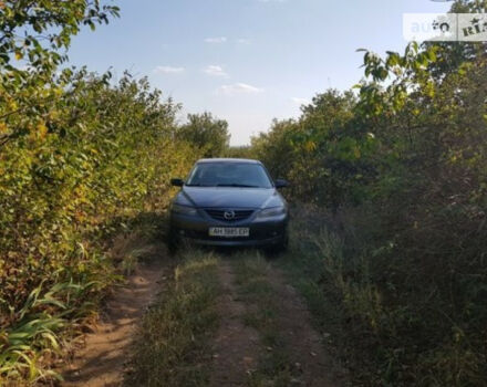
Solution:
{"label": "windshield of the dark Mazda on the track", "polygon": [[189,187],[272,188],[266,169],[259,164],[200,163],[186,182]]}

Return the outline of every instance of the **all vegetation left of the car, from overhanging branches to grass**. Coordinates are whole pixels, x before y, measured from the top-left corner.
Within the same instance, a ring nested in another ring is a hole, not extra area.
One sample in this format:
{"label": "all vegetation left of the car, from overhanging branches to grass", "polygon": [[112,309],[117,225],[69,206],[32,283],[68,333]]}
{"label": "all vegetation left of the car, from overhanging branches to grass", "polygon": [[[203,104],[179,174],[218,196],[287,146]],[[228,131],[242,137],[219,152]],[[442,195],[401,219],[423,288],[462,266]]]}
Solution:
{"label": "all vegetation left of the car, from overhanging branches to grass", "polygon": [[[115,268],[113,239],[151,223],[169,178],[211,155],[146,79],[69,66],[71,38],[117,15],[97,1],[0,1],[0,385],[60,377],[65,338],[134,266]],[[201,132],[217,122],[201,119]]]}

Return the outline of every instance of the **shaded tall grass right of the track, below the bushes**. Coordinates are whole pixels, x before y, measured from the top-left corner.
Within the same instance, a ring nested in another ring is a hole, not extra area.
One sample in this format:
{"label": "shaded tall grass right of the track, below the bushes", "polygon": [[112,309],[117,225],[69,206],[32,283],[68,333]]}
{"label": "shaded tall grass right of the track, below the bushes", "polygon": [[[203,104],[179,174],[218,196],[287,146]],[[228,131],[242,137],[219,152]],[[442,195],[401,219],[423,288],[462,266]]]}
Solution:
{"label": "shaded tall grass right of the track, below the bushes", "polygon": [[373,247],[372,239],[353,233],[352,222],[341,229],[331,218],[312,220],[294,218],[291,250],[276,264],[307,300],[352,384],[485,385],[485,330],[465,325],[460,307],[448,314],[462,291],[453,282],[459,274],[452,274],[445,292],[441,279],[423,272],[428,262]]}

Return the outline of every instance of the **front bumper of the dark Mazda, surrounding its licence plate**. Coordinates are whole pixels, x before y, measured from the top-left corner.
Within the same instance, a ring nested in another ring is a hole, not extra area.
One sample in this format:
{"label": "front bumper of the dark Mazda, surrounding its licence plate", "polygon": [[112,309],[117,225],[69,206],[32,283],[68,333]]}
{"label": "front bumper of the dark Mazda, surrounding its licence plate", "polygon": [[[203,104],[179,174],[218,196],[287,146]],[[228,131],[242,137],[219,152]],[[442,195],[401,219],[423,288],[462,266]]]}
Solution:
{"label": "front bumper of the dark Mazda, surrounding its licence plate", "polygon": [[[173,238],[188,240],[196,244],[215,247],[267,247],[276,245],[286,241],[289,216],[258,220],[256,215],[249,219],[235,222],[224,222],[211,219],[205,213],[187,216],[180,213],[170,215],[170,229]],[[219,228],[249,228],[249,237],[224,238],[210,237],[209,229]]]}

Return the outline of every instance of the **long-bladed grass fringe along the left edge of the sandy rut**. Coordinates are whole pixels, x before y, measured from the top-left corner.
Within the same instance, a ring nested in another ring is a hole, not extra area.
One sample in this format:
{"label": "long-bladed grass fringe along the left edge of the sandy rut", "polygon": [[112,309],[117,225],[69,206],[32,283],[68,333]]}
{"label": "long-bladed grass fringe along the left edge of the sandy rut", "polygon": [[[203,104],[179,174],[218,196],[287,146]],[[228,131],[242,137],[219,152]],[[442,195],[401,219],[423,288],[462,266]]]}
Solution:
{"label": "long-bladed grass fringe along the left edge of the sandy rut", "polygon": [[[62,381],[62,364],[76,348],[73,343],[91,328],[106,295],[124,281],[124,275],[131,274],[139,260],[151,258],[164,221],[156,213],[113,218],[103,223],[103,230],[84,234],[76,243],[73,240],[73,251],[39,283],[35,278],[40,272],[33,269],[29,286],[19,282],[2,289],[0,279],[2,294],[9,289],[25,291],[25,300],[17,308],[0,311],[0,386]],[[43,264],[39,263],[38,269],[44,271]],[[0,310],[9,304],[2,294]]]}

